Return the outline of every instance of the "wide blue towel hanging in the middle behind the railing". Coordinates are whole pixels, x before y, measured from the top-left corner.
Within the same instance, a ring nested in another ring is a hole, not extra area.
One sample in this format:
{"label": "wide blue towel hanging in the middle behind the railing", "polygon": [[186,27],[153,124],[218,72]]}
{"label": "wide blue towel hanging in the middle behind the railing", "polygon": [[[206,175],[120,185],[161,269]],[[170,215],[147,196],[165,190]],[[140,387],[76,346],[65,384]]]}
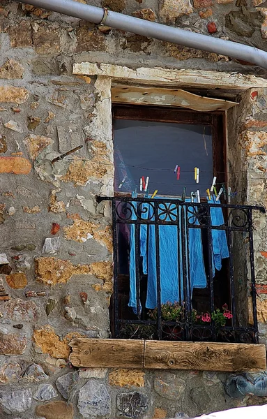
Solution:
{"label": "wide blue towel hanging in the middle behind the railing", "polygon": [[[190,202],[190,200],[188,200]],[[177,210],[172,211],[176,215]],[[178,216],[181,223],[184,223],[185,218],[182,219],[181,207],[178,207]],[[163,205],[159,204],[159,213],[163,210]],[[171,207],[170,207],[171,210]],[[191,214],[190,214],[191,215]],[[190,217],[188,214],[188,218]],[[168,216],[167,221],[171,220],[171,215]],[[197,223],[197,219],[190,220],[191,223]],[[193,288],[206,287],[206,272],[204,267],[203,249],[201,241],[201,230],[199,228],[188,229],[188,246],[189,258],[186,258],[185,278],[183,278],[183,254],[182,254],[182,237],[181,228],[177,231],[176,226],[159,226],[160,238],[160,288],[161,288],[161,302],[183,302],[185,295],[183,293],[183,281],[186,283],[188,291],[188,299],[192,297]],[[186,239],[186,237],[185,237]],[[187,248],[187,240],[185,240],[185,249]],[[180,263],[178,263],[178,252],[180,254]],[[190,269],[188,270],[188,263]],[[189,271],[189,272],[188,272]],[[190,277],[189,277],[190,276]],[[179,286],[180,284],[180,286]],[[189,293],[190,288],[190,293]],[[180,295],[181,290],[181,295]],[[148,237],[148,291],[146,297],[146,308],[154,309],[157,306],[157,274],[156,274],[156,259],[155,259],[155,226],[149,226]]]}

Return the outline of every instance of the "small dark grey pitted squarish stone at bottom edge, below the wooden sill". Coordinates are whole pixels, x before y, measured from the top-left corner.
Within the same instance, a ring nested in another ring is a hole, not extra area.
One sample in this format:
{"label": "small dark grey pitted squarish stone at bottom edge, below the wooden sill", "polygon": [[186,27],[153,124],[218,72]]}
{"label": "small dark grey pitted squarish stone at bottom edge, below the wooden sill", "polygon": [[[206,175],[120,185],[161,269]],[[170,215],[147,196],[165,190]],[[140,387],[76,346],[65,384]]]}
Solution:
{"label": "small dark grey pitted squarish stone at bottom edge, below the wooden sill", "polygon": [[117,395],[116,406],[123,418],[140,418],[148,409],[148,398],[137,391],[125,392]]}

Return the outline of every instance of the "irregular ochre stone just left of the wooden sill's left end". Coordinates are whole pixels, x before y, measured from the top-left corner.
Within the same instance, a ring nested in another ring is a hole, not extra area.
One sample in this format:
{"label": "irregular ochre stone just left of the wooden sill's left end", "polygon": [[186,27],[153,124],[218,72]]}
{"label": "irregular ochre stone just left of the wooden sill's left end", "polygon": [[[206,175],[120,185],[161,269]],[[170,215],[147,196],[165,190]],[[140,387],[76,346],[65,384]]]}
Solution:
{"label": "irregular ochre stone just left of the wooden sill's left end", "polygon": [[41,329],[33,332],[33,341],[43,353],[47,353],[53,358],[68,359],[70,355],[69,342],[73,337],[83,337],[77,332],[70,332],[63,338],[56,335],[56,332],[50,325],[45,325]]}

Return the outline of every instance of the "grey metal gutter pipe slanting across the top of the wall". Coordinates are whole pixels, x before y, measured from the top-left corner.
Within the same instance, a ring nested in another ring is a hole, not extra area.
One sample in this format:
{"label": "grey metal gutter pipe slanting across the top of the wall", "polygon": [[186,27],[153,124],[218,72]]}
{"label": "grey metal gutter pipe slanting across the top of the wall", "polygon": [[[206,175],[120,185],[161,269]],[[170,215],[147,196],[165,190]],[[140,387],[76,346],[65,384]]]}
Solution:
{"label": "grey metal gutter pipe slanting across the top of the wall", "polygon": [[79,19],[88,20],[95,24],[105,23],[109,27],[133,32],[134,34],[143,35],[148,38],[156,38],[162,41],[184,45],[185,47],[197,48],[197,50],[215,52],[215,54],[241,59],[267,69],[267,52],[255,47],[232,41],[224,41],[213,36],[196,34],[121,13],[112,11],[108,11],[107,13],[107,9],[89,6],[73,0],[20,0],[20,3],[54,10],[54,12],[78,17]]}

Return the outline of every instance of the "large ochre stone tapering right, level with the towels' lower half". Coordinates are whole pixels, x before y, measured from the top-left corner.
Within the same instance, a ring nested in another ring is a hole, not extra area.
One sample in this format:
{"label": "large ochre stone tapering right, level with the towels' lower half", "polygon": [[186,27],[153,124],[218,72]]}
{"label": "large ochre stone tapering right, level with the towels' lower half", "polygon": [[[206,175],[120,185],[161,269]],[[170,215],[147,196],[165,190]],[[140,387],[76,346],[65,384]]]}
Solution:
{"label": "large ochre stone tapering right, level with the towels' lower half", "polygon": [[36,259],[36,279],[45,285],[66,284],[73,275],[91,273],[89,265],[73,265],[57,258]]}

